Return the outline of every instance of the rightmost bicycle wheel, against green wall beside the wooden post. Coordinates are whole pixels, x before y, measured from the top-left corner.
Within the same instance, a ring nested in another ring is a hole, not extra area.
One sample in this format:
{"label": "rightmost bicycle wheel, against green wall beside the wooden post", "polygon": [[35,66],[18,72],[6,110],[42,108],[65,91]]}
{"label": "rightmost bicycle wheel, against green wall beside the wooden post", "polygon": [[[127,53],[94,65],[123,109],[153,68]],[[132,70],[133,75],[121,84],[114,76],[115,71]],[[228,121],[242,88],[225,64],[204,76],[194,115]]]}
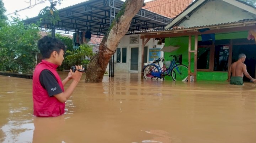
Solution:
{"label": "rightmost bicycle wheel, against green wall beside the wooden post", "polygon": [[186,65],[179,64],[177,68],[172,68],[172,79],[175,81],[187,81],[188,80],[188,68]]}

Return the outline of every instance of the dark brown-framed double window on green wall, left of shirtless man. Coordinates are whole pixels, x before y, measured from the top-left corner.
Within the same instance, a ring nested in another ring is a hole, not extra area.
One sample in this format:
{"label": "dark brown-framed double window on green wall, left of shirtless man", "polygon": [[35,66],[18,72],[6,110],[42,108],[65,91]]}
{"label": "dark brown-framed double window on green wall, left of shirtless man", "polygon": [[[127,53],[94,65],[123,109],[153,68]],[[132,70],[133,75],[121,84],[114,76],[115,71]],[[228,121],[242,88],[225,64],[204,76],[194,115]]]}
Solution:
{"label": "dark brown-framed double window on green wall, left of shirtless man", "polygon": [[230,40],[198,41],[197,69],[200,71],[228,71]]}

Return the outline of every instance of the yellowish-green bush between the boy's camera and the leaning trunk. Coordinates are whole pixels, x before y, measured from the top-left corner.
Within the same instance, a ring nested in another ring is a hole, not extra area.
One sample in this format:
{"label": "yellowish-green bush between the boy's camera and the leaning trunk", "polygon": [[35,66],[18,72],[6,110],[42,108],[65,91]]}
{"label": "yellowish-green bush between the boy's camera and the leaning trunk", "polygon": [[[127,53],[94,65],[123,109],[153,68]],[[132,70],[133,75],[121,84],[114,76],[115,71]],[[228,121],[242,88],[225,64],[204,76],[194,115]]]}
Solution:
{"label": "yellowish-green bush between the boy's camera and the leaning trunk", "polygon": [[82,44],[78,49],[74,49],[73,51],[66,51],[67,55],[65,60],[68,65],[71,67],[73,65],[87,65],[90,62],[94,53],[92,52],[92,46],[88,44]]}

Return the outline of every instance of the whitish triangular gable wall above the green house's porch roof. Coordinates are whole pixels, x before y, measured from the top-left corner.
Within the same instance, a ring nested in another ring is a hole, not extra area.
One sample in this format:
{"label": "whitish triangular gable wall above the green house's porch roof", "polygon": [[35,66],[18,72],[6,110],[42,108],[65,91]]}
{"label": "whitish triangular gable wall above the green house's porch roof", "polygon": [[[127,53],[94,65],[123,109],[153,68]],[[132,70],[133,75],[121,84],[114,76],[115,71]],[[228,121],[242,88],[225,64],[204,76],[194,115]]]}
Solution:
{"label": "whitish triangular gable wall above the green house's porch roof", "polygon": [[212,25],[252,18],[256,18],[256,15],[222,0],[211,0],[194,12],[189,20],[185,20],[178,26]]}

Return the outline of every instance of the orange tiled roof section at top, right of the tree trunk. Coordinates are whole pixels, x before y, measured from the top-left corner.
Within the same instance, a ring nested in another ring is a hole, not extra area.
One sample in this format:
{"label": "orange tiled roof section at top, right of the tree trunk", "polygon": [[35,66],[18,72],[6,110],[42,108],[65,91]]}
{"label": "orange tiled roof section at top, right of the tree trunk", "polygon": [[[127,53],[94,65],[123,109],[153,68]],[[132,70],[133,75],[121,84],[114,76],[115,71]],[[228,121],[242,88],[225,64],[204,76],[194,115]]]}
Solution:
{"label": "orange tiled roof section at top, right of the tree trunk", "polygon": [[174,18],[180,14],[193,0],[153,0],[146,2],[142,7],[162,16]]}

